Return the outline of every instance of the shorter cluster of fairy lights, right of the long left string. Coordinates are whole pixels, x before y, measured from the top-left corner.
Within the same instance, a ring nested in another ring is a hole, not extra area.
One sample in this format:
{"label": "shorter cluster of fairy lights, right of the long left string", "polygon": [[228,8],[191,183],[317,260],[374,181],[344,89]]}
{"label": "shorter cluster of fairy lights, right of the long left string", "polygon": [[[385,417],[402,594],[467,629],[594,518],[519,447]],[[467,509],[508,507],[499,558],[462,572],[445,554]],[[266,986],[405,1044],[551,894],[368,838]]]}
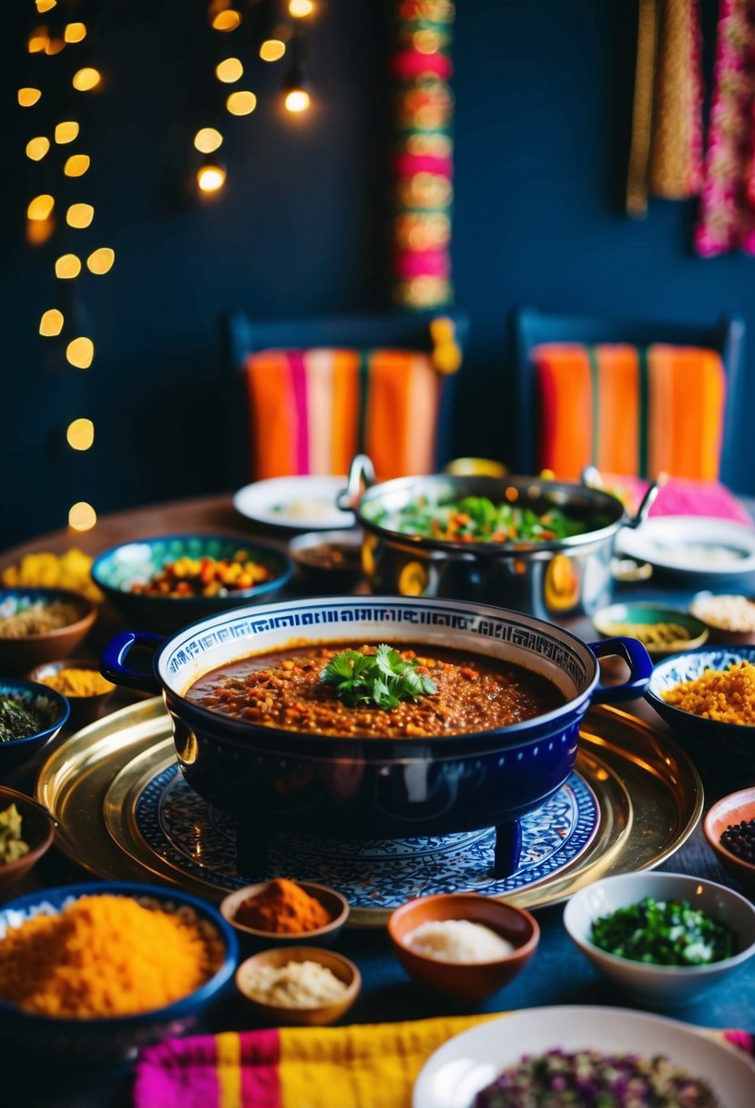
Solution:
{"label": "shorter cluster of fairy lights, right of the long left string", "polygon": [[[239,86],[242,79],[246,83],[247,68],[255,55],[267,63],[286,59],[283,106],[292,115],[309,109],[311,101],[304,68],[306,23],[314,16],[314,10],[312,0],[288,0],[288,20],[273,25],[270,33],[258,33],[260,8],[254,0],[247,3],[242,0],[210,0],[207,20],[223,40],[224,54],[215,65],[215,76],[224,98],[223,109],[228,115],[250,115],[257,107],[257,95],[251,89]],[[245,30],[249,31],[246,41]],[[219,193],[228,179],[228,167],[219,153],[225,141],[221,127],[225,130],[224,124],[201,126],[194,136],[194,147],[201,155],[196,181],[205,196]]]}

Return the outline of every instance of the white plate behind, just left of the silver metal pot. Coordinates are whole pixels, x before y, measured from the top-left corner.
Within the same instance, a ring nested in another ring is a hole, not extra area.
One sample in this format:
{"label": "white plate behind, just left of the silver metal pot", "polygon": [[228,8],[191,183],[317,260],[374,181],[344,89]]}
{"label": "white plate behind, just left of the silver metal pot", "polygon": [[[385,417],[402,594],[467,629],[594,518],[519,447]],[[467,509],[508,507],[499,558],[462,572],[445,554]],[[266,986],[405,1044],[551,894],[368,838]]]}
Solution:
{"label": "white plate behind, just left of the silver metal pot", "polygon": [[255,523],[290,531],[352,527],[353,512],[342,512],[335,503],[348,483],[345,476],[270,478],[239,489],[234,507]]}

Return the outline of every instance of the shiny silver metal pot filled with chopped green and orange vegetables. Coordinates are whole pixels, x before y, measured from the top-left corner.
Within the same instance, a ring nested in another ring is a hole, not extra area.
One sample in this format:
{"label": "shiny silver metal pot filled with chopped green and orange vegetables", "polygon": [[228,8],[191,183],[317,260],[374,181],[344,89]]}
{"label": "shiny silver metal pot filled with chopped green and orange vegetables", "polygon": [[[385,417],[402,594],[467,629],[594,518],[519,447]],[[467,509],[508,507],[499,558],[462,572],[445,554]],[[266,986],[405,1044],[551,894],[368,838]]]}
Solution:
{"label": "shiny silver metal pot filled with chopped green and orange vegetables", "polygon": [[[437,596],[552,619],[592,615],[613,587],[621,527],[616,496],[535,476],[436,473],[370,485],[358,456],[339,503],[364,530],[362,568],[375,593]],[[366,488],[365,488],[366,485]]]}

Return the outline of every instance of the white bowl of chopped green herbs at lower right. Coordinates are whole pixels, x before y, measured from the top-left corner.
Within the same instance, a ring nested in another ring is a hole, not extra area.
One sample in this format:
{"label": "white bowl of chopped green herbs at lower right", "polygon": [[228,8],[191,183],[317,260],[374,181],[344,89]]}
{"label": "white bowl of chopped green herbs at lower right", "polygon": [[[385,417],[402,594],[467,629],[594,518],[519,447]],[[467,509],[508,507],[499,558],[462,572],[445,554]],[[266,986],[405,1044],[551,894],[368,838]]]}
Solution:
{"label": "white bowl of chopped green herbs at lower right", "polygon": [[755,905],[683,873],[604,878],[563,912],[572,942],[631,999],[683,1007],[755,954]]}

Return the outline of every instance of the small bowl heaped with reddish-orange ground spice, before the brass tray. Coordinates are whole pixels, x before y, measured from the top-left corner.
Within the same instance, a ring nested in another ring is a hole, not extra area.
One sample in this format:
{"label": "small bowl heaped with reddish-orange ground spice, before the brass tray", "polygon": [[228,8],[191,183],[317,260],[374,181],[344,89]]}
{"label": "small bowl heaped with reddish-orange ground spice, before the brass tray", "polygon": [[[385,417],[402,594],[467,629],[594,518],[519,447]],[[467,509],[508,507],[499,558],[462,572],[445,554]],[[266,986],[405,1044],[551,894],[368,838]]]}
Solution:
{"label": "small bowl heaped with reddish-orange ground spice, before the brass tray", "polygon": [[220,913],[249,943],[333,943],[349,917],[345,896],[313,881],[276,878],[245,885],[220,903]]}

